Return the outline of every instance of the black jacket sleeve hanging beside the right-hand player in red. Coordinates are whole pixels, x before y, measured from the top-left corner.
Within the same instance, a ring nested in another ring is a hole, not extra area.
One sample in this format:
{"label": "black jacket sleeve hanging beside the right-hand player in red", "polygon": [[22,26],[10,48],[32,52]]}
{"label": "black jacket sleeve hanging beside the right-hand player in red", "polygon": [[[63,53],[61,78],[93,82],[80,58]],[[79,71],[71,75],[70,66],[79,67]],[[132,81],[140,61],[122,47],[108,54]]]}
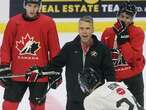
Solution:
{"label": "black jacket sleeve hanging beside the right-hand player in red", "polygon": [[103,52],[103,60],[101,64],[102,73],[107,81],[115,81],[115,70],[112,62],[111,52],[106,46]]}

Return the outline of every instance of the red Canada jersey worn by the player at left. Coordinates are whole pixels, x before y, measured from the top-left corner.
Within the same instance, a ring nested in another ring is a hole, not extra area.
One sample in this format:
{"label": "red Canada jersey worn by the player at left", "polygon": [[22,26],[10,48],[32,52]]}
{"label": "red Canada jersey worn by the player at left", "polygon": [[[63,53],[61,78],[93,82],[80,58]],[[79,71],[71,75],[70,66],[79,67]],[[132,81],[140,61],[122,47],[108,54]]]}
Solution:
{"label": "red Canada jersey worn by the player at left", "polygon": [[[34,65],[45,66],[60,51],[56,26],[51,17],[40,15],[26,21],[22,14],[12,17],[5,29],[1,46],[1,63],[11,64],[13,74],[25,74]],[[15,78],[25,81],[25,78]],[[40,78],[39,82],[48,79]]]}

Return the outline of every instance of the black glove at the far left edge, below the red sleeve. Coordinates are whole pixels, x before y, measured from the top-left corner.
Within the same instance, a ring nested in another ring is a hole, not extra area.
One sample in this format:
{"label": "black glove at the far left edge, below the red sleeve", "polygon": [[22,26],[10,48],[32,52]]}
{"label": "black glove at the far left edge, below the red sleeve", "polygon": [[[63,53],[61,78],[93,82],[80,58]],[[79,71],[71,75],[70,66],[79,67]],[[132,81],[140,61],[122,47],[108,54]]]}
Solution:
{"label": "black glove at the far left edge, below the red sleeve", "polygon": [[4,88],[11,84],[10,78],[3,78],[5,76],[12,75],[12,71],[9,65],[0,65],[0,85]]}

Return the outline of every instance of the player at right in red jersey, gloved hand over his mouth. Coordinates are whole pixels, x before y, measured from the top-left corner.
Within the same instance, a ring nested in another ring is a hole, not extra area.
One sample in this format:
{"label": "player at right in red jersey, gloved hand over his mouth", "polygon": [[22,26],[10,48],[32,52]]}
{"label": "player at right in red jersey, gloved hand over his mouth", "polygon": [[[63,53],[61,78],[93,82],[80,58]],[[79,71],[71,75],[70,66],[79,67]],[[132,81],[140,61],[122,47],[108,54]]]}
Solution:
{"label": "player at right in red jersey, gloved hand over his mouth", "polygon": [[144,106],[144,31],[133,22],[136,13],[135,5],[129,2],[121,5],[116,23],[105,29],[101,40],[111,49],[116,80],[123,81]]}

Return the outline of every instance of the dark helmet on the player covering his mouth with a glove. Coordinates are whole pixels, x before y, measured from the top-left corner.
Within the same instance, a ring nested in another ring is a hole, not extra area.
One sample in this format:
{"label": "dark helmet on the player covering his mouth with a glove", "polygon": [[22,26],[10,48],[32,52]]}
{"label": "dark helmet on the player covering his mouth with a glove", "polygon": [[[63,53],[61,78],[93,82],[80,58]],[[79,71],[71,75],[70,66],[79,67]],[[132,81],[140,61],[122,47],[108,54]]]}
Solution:
{"label": "dark helmet on the player covering his mouth with a glove", "polygon": [[126,12],[128,15],[134,17],[137,13],[136,6],[127,2],[119,6],[119,11],[117,13],[117,16],[120,15],[120,13]]}

